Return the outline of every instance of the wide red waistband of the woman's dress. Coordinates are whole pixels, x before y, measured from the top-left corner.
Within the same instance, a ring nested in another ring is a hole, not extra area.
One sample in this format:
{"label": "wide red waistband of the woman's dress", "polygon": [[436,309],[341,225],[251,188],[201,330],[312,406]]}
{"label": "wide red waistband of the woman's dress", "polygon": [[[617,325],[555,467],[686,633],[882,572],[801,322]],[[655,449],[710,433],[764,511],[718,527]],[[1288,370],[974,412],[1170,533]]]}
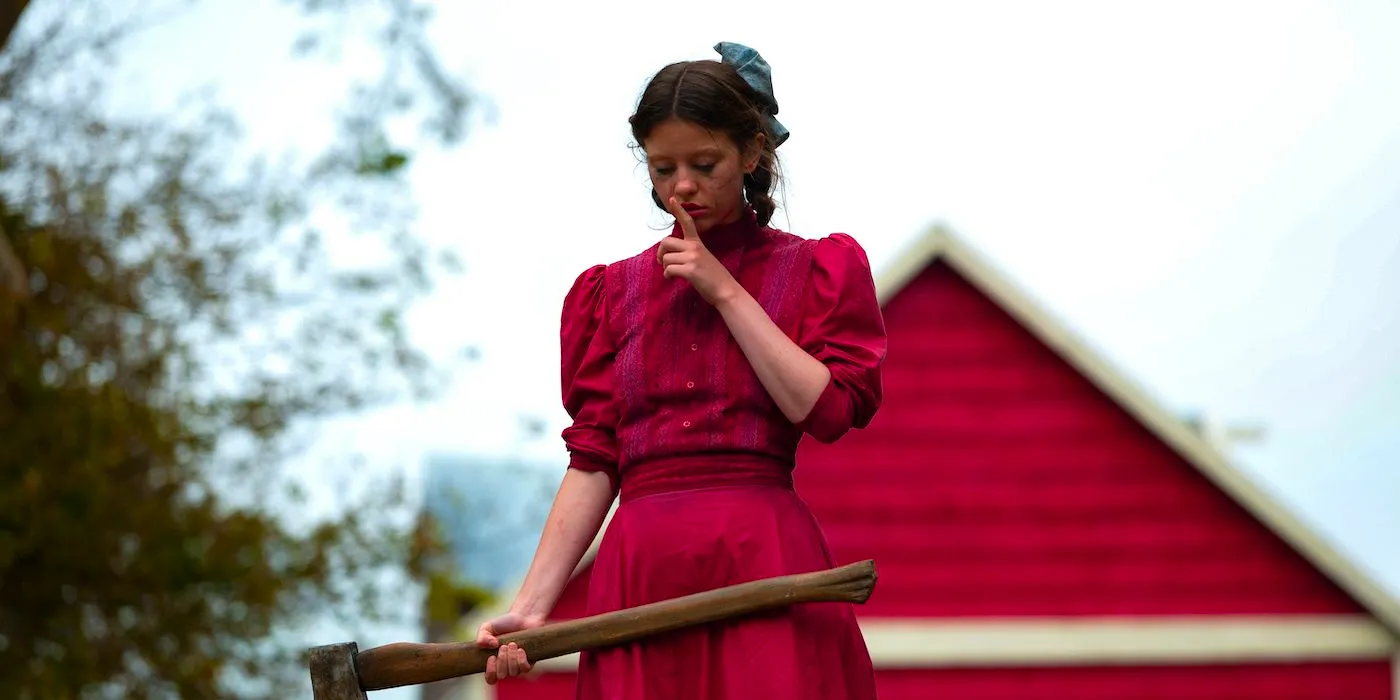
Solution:
{"label": "wide red waistband of the woman's dress", "polygon": [[792,465],[755,455],[651,459],[622,472],[619,503],[662,493],[759,486],[792,490]]}

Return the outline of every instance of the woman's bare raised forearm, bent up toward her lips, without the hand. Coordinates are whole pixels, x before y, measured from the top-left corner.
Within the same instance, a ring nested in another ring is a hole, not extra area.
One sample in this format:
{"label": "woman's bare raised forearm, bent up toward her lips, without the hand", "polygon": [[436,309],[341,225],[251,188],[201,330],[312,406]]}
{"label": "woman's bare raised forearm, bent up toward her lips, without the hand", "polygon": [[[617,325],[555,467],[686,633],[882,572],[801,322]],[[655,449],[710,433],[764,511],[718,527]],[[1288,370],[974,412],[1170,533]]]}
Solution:
{"label": "woman's bare raised forearm, bent up toward her lips, without the hand", "polygon": [[832,371],[783,333],[743,287],[736,284],[715,308],[783,414],[792,423],[805,419],[826,391]]}

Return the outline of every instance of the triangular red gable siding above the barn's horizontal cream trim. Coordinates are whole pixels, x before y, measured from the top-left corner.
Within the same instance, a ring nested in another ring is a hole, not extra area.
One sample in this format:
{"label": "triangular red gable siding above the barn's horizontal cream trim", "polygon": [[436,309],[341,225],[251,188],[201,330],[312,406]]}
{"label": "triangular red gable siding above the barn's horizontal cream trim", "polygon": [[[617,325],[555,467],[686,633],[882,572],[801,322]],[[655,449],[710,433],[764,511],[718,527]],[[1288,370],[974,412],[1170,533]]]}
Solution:
{"label": "triangular red gable siding above the barn's horizontal cream trim", "polygon": [[885,409],[797,476],[862,616],[1361,612],[946,265],[886,323]]}

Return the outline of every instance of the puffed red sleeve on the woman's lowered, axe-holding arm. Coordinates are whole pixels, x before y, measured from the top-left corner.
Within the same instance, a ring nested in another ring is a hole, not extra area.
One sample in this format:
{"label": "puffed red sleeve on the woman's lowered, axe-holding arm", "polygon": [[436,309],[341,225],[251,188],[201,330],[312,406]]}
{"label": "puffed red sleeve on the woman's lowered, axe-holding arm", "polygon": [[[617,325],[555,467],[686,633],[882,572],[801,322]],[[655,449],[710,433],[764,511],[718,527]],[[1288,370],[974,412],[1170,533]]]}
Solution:
{"label": "puffed red sleeve on the woman's lowered, axe-holding arm", "polygon": [[568,466],[605,472],[617,487],[617,410],[612,396],[616,354],[608,330],[606,267],[584,270],[564,297],[559,323],[560,382],[564,410],[573,423],[564,428]]}

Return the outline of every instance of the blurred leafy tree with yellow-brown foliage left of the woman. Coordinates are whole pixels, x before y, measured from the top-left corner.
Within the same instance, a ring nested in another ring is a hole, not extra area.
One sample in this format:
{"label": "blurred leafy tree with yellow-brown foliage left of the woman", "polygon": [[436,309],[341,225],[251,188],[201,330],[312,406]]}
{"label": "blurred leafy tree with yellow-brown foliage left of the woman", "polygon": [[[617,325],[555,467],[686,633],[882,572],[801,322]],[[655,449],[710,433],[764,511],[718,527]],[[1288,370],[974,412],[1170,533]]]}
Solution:
{"label": "blurred leafy tree with yellow-brown foliage left of the woman", "polygon": [[[0,697],[300,694],[307,640],[280,633],[372,620],[386,571],[430,574],[395,483],[319,521],[276,505],[304,498],[284,466],[318,419],[440,382],[400,318],[448,260],[388,134],[421,118],[451,146],[475,102],[417,1],[284,1],[374,21],[385,64],[311,158],[242,158],[210,99],[104,112],[105,59],[146,17],[0,3]],[[378,265],[333,263],[351,230]]]}

